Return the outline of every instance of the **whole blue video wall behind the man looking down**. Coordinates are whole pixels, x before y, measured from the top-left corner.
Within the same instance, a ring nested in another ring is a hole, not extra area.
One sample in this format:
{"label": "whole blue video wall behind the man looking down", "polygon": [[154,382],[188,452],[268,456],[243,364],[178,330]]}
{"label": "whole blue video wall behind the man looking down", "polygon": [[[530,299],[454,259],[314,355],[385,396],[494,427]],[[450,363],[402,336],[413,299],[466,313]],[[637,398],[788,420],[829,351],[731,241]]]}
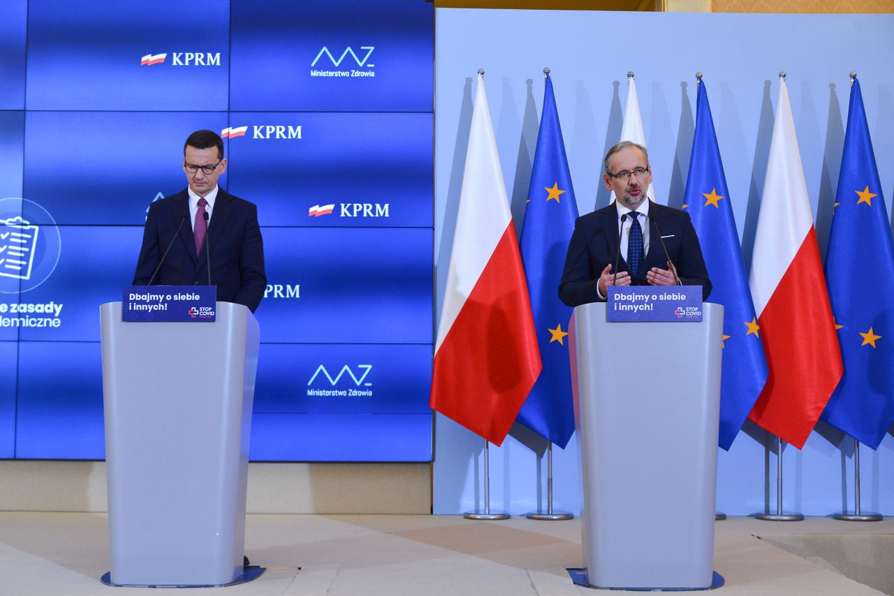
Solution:
{"label": "whole blue video wall behind the man looking down", "polygon": [[99,305],[207,128],[264,236],[251,457],[430,461],[433,27],[424,0],[0,3],[0,457],[104,457]]}

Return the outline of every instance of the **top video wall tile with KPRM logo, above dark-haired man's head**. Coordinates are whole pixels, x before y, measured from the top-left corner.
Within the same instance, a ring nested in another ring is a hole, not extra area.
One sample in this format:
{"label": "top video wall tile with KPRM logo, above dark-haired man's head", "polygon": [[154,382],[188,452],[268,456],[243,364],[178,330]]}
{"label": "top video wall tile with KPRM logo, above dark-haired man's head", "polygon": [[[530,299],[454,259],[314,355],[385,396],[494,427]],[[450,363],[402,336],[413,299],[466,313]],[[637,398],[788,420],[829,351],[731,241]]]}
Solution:
{"label": "top video wall tile with KPRM logo, above dark-haired man's head", "polygon": [[29,2],[26,109],[228,109],[229,3],[76,6]]}

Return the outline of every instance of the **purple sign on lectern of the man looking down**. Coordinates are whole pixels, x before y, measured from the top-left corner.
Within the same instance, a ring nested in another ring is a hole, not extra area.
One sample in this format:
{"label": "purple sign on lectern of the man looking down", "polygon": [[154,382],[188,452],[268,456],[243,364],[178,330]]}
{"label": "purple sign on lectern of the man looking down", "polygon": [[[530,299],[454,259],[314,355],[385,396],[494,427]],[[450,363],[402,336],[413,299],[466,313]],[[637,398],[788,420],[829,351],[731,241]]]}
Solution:
{"label": "purple sign on lectern of the man looking down", "polygon": [[217,286],[124,286],[124,323],[214,323]]}

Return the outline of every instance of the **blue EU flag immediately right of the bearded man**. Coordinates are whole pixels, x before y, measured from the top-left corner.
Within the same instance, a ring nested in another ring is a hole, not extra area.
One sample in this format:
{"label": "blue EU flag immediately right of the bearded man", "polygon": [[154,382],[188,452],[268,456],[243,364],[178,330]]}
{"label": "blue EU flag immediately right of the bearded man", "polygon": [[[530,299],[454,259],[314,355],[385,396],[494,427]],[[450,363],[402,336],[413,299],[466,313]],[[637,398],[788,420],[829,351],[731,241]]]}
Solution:
{"label": "blue EU flag immediately right of the bearded man", "polygon": [[686,183],[684,209],[692,217],[711,275],[711,301],[723,305],[723,375],[719,444],[730,450],[767,380],[760,327],[748,289],[730,191],[723,174],[704,82],[698,84],[696,136]]}

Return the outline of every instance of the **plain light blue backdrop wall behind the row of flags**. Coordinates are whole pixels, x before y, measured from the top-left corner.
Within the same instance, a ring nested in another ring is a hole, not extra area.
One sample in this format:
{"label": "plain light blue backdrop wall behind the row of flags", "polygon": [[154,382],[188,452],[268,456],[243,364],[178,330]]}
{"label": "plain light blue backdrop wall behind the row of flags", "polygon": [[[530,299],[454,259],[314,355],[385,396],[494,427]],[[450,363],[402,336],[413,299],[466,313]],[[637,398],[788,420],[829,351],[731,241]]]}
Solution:
{"label": "plain light blue backdrop wall behind the row of flags", "polygon": [[[730,201],[750,264],[780,70],[787,83],[824,253],[848,114],[848,73],[859,73],[884,194],[894,182],[894,27],[891,15],[743,15],[437,9],[435,13],[435,237],[437,311],[460,197],[474,78],[484,68],[503,175],[521,228],[543,102],[552,69],[581,214],[607,204],[599,163],[619,139],[627,72],[635,71],[660,203],[679,206],[704,72]],[[890,211],[890,200],[889,200]],[[775,508],[776,459],[754,426],[721,450],[718,509]],[[554,507],[579,510],[578,453],[554,451]],[[483,507],[483,441],[435,421],[434,513]],[[619,446],[623,449],[623,446]],[[545,505],[545,444],[516,425],[491,448],[491,505],[522,514]],[[784,450],[785,508],[828,515],[853,507],[852,441],[822,425],[805,448]],[[894,437],[861,450],[863,508],[894,514]],[[769,463],[769,470],[767,469]]]}

